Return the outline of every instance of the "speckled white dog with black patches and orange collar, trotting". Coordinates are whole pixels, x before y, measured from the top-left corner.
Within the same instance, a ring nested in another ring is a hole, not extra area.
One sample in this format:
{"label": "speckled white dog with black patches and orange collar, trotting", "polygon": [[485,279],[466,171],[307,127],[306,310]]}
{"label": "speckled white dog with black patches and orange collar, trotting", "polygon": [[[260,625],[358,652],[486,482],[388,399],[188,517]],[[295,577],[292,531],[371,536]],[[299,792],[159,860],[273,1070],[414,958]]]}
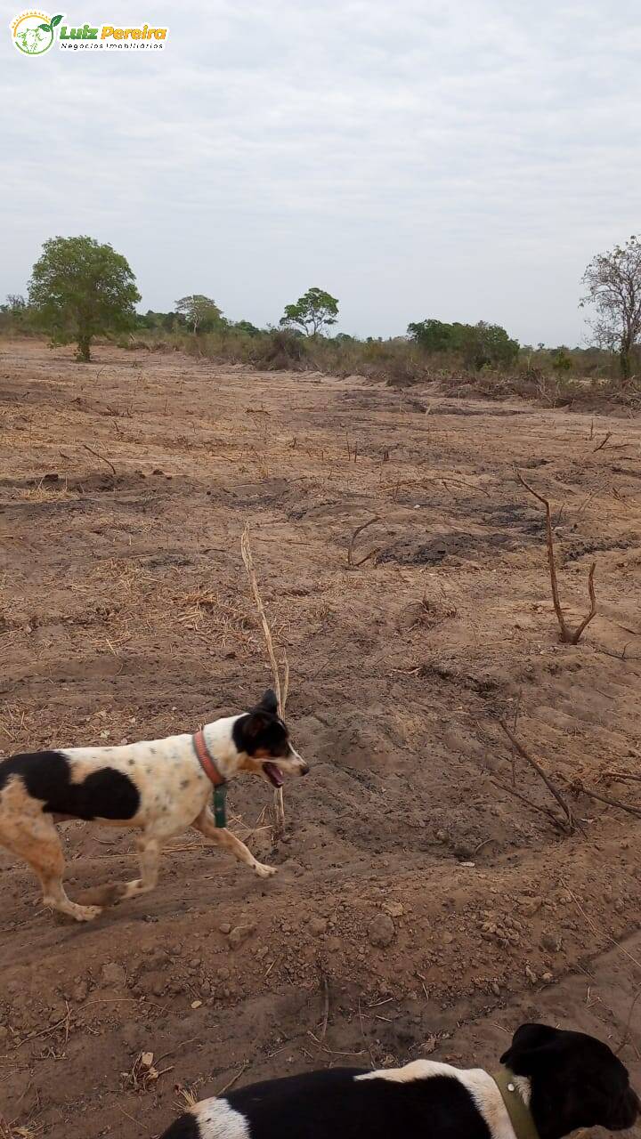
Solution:
{"label": "speckled white dog with black patches and orange collar, trotting", "polygon": [[99,906],[72,902],[55,822],[89,819],[139,831],[140,877],[103,887],[113,903],[153,890],[163,844],[187,827],[227,847],[261,878],[276,868],[258,862],[226,827],[217,826],[208,802],[212,785],[249,771],[275,787],[283,775],[309,768],[290,743],[269,689],[251,712],[208,723],[195,735],[169,736],[120,747],[65,747],[14,755],[0,762],[0,844],[33,868],[46,906],[90,921]]}

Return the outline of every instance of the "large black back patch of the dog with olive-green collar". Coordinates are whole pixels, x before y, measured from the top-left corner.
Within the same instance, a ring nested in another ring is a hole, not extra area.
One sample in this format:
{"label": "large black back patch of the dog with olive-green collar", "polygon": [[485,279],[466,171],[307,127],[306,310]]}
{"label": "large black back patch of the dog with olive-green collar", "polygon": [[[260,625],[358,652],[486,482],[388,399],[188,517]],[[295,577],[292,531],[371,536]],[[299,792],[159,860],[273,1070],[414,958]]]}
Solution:
{"label": "large black back patch of the dog with olive-green collar", "polygon": [[471,1092],[456,1076],[355,1080],[359,1071],[333,1068],[267,1080],[230,1091],[225,1099],[244,1115],[252,1139],[492,1139]]}

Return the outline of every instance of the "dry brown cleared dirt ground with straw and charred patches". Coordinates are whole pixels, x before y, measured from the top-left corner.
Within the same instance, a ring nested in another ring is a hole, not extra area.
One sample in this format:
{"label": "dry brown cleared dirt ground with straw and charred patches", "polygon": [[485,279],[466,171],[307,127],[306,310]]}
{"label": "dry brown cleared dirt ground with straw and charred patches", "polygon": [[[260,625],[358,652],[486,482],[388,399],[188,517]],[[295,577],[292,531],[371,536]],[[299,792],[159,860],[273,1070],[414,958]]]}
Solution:
{"label": "dry brown cleared dirt ground with straw and charred patches", "polygon": [[[311,1066],[492,1065],[528,1018],[625,1040],[641,1083],[640,420],[6,341],[0,400],[3,754],[251,704],[249,523],[313,764],[275,849],[268,788],[230,792],[267,884],[194,831],[79,926],[0,854],[3,1139],[153,1137],[190,1093]],[[574,621],[597,564],[577,647],[514,464]],[[127,831],[64,844],[72,896],[135,875]]]}

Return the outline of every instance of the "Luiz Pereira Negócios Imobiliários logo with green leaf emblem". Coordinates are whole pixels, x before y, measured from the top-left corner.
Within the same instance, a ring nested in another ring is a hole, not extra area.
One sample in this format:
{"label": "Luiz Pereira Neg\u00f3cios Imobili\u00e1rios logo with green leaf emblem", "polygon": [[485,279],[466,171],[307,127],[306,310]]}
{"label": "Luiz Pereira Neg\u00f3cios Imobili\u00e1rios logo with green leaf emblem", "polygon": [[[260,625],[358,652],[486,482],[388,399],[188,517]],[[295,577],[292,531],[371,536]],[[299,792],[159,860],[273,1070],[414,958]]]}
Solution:
{"label": "Luiz Pereira Neg\u00f3cios Imobili\u00e1rios logo with green leaf emblem", "polygon": [[[65,23],[63,23],[65,21]],[[59,26],[58,26],[59,25]],[[23,11],[11,24],[14,44],[25,56],[42,56],[57,42],[60,50],[149,51],[164,48],[169,28],[143,24],[119,27],[115,24],[72,26],[65,16]]]}

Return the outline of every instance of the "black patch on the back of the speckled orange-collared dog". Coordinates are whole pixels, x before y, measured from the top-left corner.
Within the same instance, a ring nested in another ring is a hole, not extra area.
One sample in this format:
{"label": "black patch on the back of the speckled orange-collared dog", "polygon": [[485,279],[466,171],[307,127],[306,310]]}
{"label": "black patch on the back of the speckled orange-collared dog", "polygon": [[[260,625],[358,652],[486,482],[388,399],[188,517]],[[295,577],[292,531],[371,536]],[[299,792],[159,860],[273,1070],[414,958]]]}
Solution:
{"label": "black patch on the back of the speckled orange-collared dog", "polygon": [[49,814],[76,819],[132,819],[140,806],[136,785],[114,768],[92,771],[82,782],[71,780],[72,761],[64,752],[13,755],[0,763],[0,792],[11,776],[22,779],[27,794],[44,803]]}

